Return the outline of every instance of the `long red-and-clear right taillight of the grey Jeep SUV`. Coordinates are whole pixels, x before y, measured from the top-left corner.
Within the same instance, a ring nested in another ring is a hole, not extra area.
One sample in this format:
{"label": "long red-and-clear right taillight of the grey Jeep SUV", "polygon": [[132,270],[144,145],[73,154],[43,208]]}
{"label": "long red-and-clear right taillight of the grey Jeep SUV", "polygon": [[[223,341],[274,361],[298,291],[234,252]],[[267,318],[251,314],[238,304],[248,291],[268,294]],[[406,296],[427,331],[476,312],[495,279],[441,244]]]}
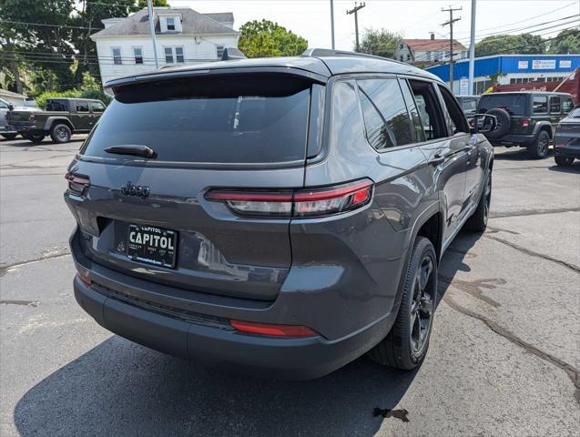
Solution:
{"label": "long red-and-clear right taillight of the grey Jeep SUV", "polygon": [[211,189],[205,198],[225,202],[241,216],[303,218],[361,208],[371,200],[372,185],[371,180],[364,179],[334,187],[294,191]]}

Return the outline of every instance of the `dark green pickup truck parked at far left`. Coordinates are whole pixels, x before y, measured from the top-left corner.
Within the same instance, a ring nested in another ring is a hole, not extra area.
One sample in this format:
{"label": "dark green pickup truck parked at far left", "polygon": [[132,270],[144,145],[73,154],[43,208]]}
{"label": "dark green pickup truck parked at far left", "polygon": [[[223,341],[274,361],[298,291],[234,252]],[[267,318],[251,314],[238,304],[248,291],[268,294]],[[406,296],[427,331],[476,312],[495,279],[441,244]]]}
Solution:
{"label": "dark green pickup truck parked at far left", "polygon": [[58,97],[46,100],[46,111],[10,111],[7,121],[34,143],[40,143],[47,135],[56,143],[67,143],[73,134],[90,132],[104,111],[100,100]]}

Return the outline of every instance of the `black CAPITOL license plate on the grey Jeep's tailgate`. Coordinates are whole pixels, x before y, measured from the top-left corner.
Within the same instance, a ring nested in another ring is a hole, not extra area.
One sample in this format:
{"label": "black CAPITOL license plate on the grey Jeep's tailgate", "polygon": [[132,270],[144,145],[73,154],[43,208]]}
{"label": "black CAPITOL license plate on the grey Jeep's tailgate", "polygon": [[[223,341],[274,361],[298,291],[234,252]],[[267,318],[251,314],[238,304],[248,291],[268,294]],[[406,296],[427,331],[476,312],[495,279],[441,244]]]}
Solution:
{"label": "black CAPITOL license plate on the grey Jeep's tailgate", "polygon": [[175,269],[178,232],[157,226],[129,224],[127,258],[144,264]]}

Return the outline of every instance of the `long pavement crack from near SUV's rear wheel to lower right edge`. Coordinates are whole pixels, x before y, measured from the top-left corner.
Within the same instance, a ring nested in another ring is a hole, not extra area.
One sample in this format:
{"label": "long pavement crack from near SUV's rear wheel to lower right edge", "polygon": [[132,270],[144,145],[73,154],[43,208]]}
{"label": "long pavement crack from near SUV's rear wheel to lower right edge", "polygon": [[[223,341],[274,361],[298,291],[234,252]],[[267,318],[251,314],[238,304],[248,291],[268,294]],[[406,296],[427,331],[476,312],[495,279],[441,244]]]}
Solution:
{"label": "long pavement crack from near SUV's rear wheel to lower right edge", "polygon": [[514,343],[516,346],[524,349],[524,351],[532,353],[536,357],[544,361],[550,362],[551,364],[555,365],[555,367],[557,367],[558,369],[565,371],[565,374],[568,376],[568,378],[570,378],[570,380],[575,386],[574,392],[575,401],[580,404],[580,372],[574,366],[568,364],[563,360],[560,360],[559,358],[556,358],[554,355],[551,355],[548,352],[544,352],[536,348],[533,344],[530,344],[527,341],[520,339],[512,331],[506,330],[502,325],[496,323],[494,320],[488,319],[487,317],[475,311],[466,309],[462,305],[458,304],[455,300],[453,300],[451,296],[449,296],[449,294],[443,296],[443,301],[447,305],[449,305],[453,310],[461,312],[463,315],[471,317],[472,319],[482,321],[483,324],[487,326],[487,328],[493,330],[497,335],[504,337],[505,340],[508,340]]}

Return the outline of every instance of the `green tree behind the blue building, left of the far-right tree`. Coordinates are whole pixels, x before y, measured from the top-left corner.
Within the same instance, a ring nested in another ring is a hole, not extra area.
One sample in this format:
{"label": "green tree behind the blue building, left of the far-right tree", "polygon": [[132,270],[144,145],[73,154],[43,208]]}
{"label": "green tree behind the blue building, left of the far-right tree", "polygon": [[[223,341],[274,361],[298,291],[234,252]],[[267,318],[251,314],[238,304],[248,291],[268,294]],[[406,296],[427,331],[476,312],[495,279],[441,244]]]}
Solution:
{"label": "green tree behind the blue building, left of the far-right tree", "polygon": [[542,36],[532,34],[486,36],[475,44],[475,56],[506,54],[534,55],[545,53]]}

